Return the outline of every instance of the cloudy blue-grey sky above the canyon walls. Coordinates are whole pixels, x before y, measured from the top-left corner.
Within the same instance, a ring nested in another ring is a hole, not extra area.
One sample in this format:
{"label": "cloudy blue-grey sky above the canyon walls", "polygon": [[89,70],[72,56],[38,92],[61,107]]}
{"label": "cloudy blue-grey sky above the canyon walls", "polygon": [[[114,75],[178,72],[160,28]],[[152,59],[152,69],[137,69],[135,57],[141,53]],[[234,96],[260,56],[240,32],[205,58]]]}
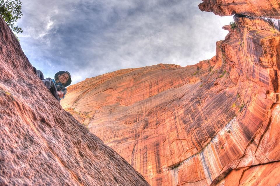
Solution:
{"label": "cloudy blue-grey sky above the canyon walls", "polygon": [[228,33],[201,0],[22,0],[17,34],[30,63],[72,84],[124,68],[193,65],[211,59]]}

